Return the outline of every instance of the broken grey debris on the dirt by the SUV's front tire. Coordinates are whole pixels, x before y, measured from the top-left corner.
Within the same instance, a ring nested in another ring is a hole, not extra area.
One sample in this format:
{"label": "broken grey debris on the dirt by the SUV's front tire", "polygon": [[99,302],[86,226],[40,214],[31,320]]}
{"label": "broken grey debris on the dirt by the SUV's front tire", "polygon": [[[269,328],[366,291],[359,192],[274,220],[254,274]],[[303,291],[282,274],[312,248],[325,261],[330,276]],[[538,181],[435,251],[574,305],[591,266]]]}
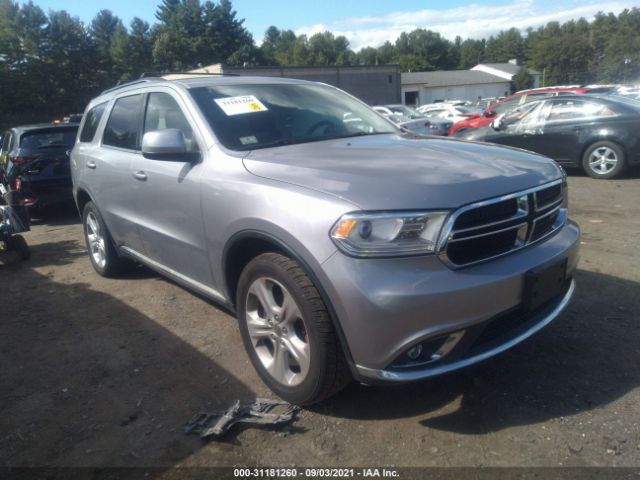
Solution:
{"label": "broken grey debris on the dirt by the SUV's front tire", "polygon": [[[275,407],[283,407],[280,413],[274,413]],[[195,415],[185,425],[187,434],[197,433],[200,438],[219,438],[231,429],[236,423],[253,425],[280,425],[289,423],[295,418],[299,410],[281,400],[269,400],[257,398],[251,404],[241,405],[237,400],[228,410],[222,412],[203,412]]]}

